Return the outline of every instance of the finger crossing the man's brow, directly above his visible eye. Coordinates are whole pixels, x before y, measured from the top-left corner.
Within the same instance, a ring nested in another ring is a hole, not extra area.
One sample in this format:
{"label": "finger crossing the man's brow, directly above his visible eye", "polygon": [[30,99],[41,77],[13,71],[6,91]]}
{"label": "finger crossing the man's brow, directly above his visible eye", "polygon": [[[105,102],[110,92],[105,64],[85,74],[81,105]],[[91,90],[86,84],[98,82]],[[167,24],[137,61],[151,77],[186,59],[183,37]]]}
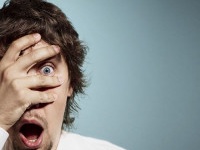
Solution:
{"label": "finger crossing the man's brow, directly above his visible eye", "polygon": [[21,67],[22,70],[27,70],[30,69],[33,65],[37,64],[38,62],[56,56],[59,52],[60,48],[55,45],[43,47],[31,51],[28,54],[20,57],[16,63]]}

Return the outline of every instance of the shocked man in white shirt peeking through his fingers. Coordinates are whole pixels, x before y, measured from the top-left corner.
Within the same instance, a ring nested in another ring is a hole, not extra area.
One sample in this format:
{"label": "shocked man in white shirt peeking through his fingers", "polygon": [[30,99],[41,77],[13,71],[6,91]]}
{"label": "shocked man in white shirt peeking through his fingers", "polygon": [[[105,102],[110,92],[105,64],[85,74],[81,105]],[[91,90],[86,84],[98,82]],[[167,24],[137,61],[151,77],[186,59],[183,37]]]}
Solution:
{"label": "shocked man in white shirt peeking through his fingers", "polygon": [[120,150],[68,133],[74,98],[86,86],[86,47],[63,12],[43,0],[0,10],[0,149]]}

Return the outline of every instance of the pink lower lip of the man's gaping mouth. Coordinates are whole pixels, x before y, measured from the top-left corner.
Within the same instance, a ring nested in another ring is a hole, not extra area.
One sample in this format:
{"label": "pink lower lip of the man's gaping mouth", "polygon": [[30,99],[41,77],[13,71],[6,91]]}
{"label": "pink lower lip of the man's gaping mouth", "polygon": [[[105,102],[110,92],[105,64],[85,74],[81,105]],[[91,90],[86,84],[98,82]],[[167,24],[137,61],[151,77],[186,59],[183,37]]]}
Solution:
{"label": "pink lower lip of the man's gaping mouth", "polygon": [[42,141],[43,141],[43,132],[41,133],[41,135],[39,136],[39,138],[37,139],[37,141],[35,142],[31,142],[29,141],[23,134],[20,133],[20,138],[22,140],[22,142],[24,143],[24,145],[27,147],[27,148],[30,148],[30,149],[36,149],[36,148],[39,148],[40,145],[42,144]]}

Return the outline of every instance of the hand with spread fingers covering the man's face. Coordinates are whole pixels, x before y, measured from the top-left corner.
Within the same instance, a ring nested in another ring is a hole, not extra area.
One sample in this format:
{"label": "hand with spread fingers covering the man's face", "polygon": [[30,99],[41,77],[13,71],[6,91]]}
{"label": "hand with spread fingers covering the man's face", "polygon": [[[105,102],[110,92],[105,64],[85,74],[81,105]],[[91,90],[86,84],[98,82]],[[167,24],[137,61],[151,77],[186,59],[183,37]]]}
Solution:
{"label": "hand with spread fingers covering the man's face", "polygon": [[47,46],[20,56],[20,52],[41,40],[39,34],[26,35],[12,42],[0,61],[0,127],[8,130],[32,105],[50,103],[57,95],[33,89],[61,85],[58,77],[32,75],[29,69],[59,53],[59,47]]}

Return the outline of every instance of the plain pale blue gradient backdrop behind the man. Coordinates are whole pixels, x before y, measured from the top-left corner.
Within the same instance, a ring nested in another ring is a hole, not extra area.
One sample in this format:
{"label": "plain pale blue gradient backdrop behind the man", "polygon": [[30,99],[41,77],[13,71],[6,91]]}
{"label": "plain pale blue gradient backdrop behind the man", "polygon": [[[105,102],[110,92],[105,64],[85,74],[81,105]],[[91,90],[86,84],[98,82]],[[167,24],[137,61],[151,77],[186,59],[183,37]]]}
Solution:
{"label": "plain pale blue gradient backdrop behind the man", "polygon": [[90,48],[74,132],[129,150],[200,149],[199,0],[50,2]]}

